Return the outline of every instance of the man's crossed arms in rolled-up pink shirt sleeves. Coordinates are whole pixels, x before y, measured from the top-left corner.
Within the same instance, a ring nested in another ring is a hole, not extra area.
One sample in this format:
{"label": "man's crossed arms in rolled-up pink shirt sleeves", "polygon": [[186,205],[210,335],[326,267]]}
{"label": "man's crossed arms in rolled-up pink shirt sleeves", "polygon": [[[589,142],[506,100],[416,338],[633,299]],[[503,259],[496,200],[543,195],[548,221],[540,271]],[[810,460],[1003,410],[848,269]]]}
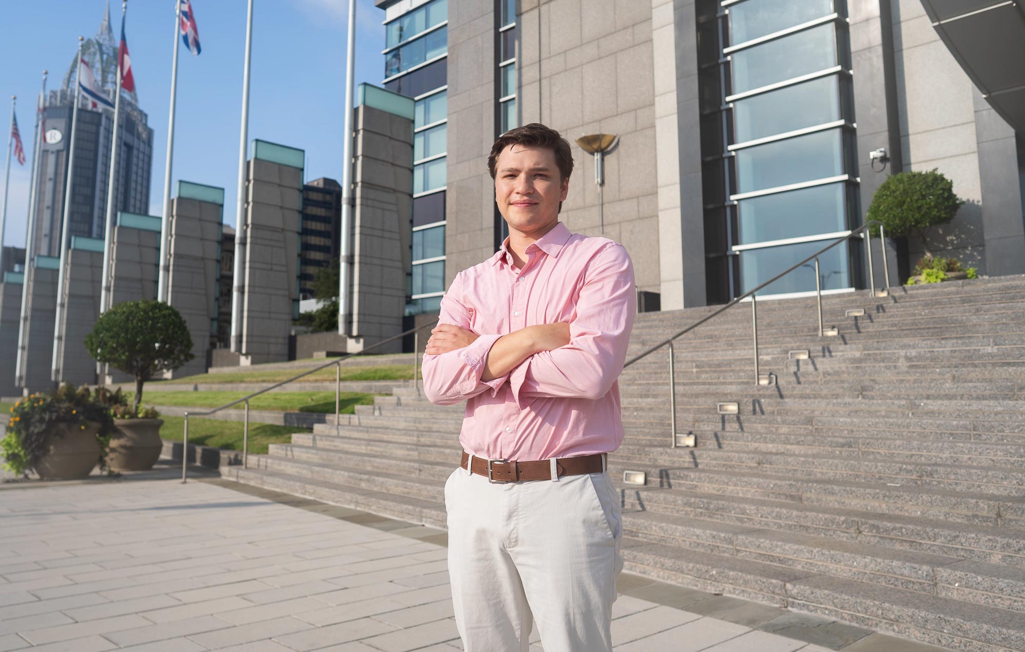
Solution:
{"label": "man's crossed arms in rolled-up pink shirt sleeves", "polygon": [[521,405],[537,397],[597,400],[612,388],[637,312],[633,270],[623,247],[610,243],[588,261],[569,323],[475,333],[461,281],[456,276],[442,299],[423,358],[424,394],[433,403],[459,403],[487,391],[495,396],[506,382]]}

